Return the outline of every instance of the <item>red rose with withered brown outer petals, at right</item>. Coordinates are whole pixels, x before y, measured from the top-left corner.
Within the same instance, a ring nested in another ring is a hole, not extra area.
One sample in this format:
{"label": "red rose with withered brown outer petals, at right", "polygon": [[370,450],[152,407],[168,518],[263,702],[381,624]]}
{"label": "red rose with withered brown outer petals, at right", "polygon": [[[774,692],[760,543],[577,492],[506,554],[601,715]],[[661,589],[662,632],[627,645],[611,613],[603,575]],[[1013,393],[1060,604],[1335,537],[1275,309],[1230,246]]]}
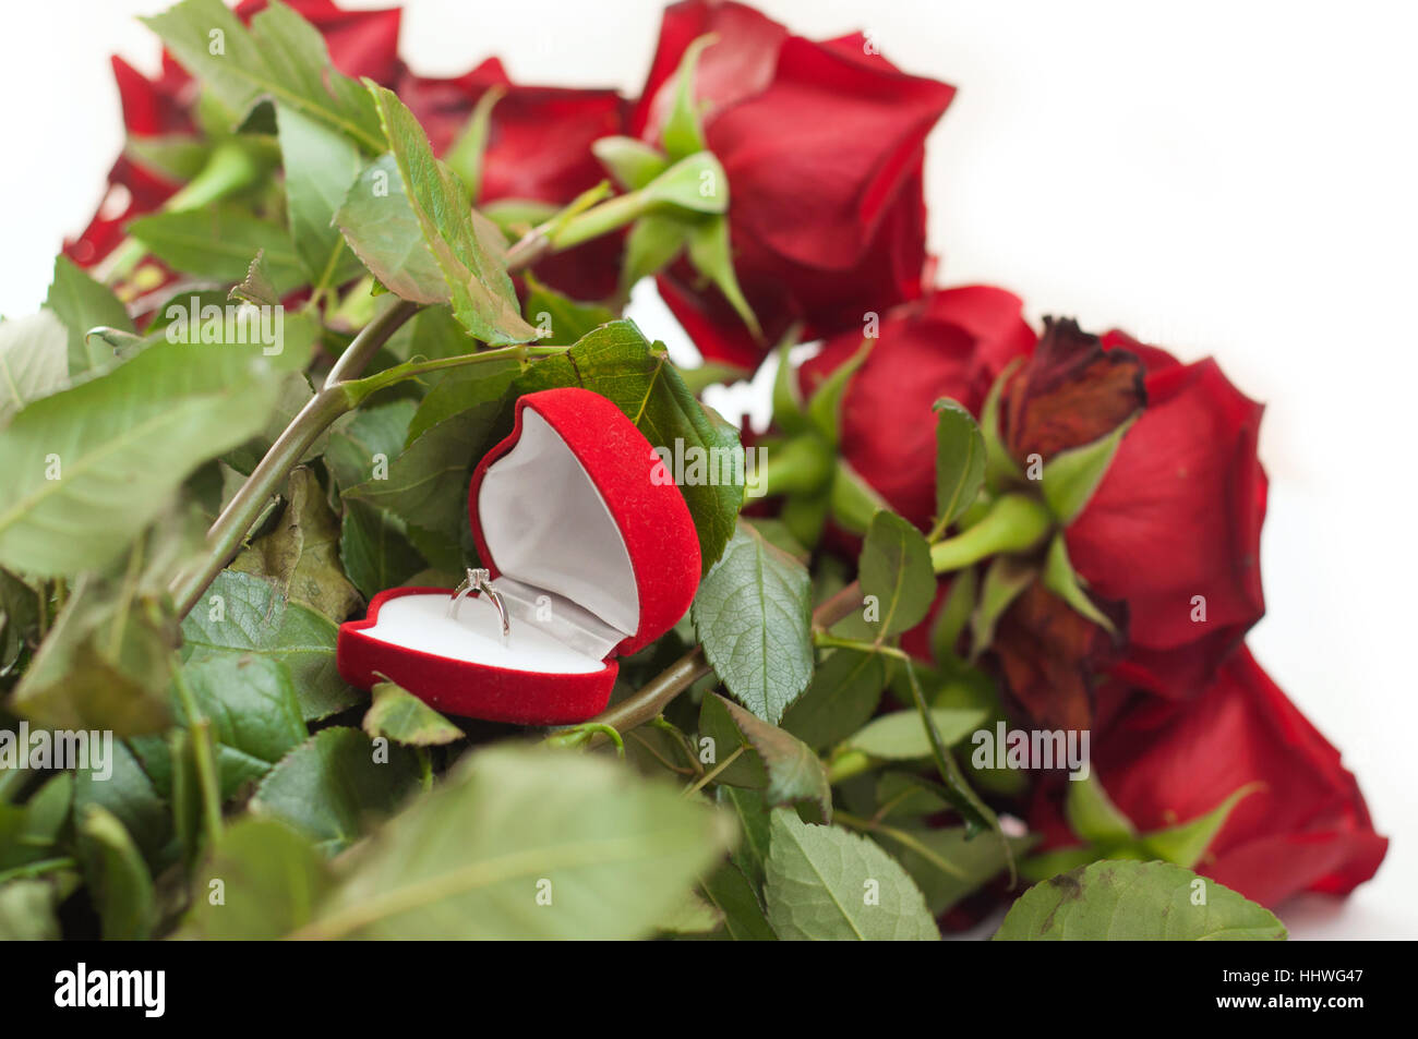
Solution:
{"label": "red rose with withered brown outer petals, at right", "polygon": [[1032,455],[1048,461],[1096,441],[1139,410],[1065,532],[1073,568],[1124,645],[1038,585],[995,635],[1012,703],[1045,727],[1088,727],[1093,679],[1105,670],[1127,686],[1194,696],[1265,612],[1261,405],[1215,361],[1183,366],[1120,332],[1098,337],[1049,320],[1004,390],[1000,432],[1022,469]]}

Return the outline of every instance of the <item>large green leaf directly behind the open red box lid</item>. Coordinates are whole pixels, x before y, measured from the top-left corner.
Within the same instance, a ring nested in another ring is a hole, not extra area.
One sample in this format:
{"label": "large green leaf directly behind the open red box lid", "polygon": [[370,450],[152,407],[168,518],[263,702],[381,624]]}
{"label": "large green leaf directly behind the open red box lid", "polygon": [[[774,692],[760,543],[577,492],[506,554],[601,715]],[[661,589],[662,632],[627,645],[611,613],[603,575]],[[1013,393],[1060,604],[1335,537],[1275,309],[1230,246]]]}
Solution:
{"label": "large green leaf directly behind the open red box lid", "polygon": [[519,394],[581,386],[610,398],[652,447],[708,459],[709,479],[679,489],[699,533],[702,573],[725,553],[743,503],[743,455],[739,434],[695,400],[665,354],[645,340],[634,322],[617,320],[586,335],[566,354],[546,357],[516,383]]}

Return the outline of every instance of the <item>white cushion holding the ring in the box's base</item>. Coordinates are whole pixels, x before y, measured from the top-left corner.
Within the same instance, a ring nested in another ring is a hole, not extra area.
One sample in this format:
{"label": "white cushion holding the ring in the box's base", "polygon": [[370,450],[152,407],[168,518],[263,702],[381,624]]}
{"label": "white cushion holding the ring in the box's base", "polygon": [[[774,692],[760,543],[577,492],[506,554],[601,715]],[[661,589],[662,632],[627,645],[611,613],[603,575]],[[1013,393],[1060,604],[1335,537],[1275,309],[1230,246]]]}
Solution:
{"label": "white cushion holding the ring in the box's base", "polygon": [[502,638],[502,618],[481,595],[469,595],[448,617],[448,595],[400,595],[379,608],[364,635],[450,661],[469,661],[506,670],[546,675],[591,675],[605,661],[579,653],[533,624],[513,619]]}

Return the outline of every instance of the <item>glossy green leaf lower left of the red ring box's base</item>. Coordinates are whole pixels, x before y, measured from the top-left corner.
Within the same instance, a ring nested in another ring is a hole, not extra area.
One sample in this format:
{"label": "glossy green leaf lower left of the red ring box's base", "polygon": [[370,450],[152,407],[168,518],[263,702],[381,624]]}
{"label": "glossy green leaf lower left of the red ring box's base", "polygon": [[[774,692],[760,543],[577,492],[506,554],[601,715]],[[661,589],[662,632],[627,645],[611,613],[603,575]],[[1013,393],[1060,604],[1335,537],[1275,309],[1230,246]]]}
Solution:
{"label": "glossy green leaf lower left of the red ring box's base", "polygon": [[199,717],[211,723],[223,799],[264,777],[309,737],[295,683],[281,661],[213,656],[187,663],[183,680]]}

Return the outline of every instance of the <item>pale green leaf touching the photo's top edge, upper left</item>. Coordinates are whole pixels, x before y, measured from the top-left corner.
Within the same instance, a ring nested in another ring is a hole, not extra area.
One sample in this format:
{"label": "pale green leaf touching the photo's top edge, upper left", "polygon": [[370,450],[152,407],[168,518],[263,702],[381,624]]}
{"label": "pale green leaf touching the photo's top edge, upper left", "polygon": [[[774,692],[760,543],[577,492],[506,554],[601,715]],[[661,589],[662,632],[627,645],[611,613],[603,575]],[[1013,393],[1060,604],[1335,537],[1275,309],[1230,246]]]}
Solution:
{"label": "pale green leaf touching the photo's top edge, upper left", "polygon": [[250,33],[221,0],[183,0],[142,21],[238,119],[269,98],[367,152],[383,149],[369,96],[330,64],[320,33],[279,0],[251,20]]}

